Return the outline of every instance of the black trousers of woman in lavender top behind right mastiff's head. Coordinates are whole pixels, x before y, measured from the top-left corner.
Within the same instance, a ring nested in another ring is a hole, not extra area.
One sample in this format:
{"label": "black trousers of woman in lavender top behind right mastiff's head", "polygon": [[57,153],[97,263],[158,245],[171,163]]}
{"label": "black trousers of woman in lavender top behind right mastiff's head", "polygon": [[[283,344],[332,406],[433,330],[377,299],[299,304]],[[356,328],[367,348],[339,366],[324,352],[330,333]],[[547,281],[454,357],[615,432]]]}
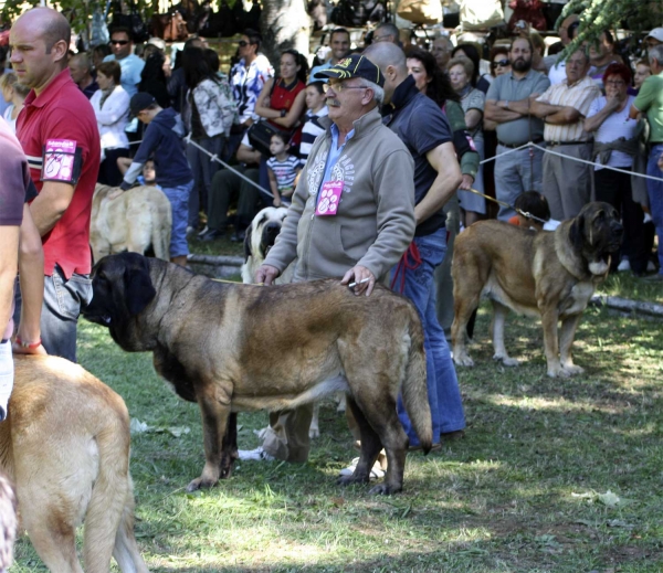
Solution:
{"label": "black trousers of woman in lavender top behind right mastiff's head", "polygon": [[[597,201],[610,203],[619,211],[624,225],[624,242],[622,254],[629,257],[631,270],[642,274],[646,270],[648,251],[645,247],[644,212],[639,203],[633,201],[631,176],[599,169],[594,171],[594,189]],[[619,257],[612,261],[613,267],[619,264]]]}

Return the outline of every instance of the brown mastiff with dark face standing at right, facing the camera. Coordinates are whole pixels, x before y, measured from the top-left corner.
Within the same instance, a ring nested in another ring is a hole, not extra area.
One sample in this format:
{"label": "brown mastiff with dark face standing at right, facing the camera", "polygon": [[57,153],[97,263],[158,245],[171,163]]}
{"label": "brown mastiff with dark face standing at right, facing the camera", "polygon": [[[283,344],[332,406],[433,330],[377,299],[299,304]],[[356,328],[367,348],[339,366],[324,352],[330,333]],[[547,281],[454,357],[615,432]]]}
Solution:
{"label": "brown mastiff with dark face standing at right, facing the camera", "polygon": [[596,202],[551,232],[482,221],[461,233],[452,266],[454,362],[474,364],[467,354],[465,329],[483,293],[493,303],[495,360],[517,364],[504,347],[504,322],[511,309],[540,316],[549,376],[581,373],[571,357],[576,329],[597,284],[610,268],[622,231],[617,210]]}

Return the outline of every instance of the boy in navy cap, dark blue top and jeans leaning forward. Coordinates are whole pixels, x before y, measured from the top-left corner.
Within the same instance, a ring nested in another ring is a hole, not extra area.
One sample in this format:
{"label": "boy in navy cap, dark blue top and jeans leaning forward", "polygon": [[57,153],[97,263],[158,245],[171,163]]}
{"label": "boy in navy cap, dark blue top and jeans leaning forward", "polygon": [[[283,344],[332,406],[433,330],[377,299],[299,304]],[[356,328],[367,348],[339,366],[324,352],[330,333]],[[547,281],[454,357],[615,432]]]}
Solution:
{"label": "boy in navy cap, dark blue top and jeans leaning forward", "polygon": [[143,166],[149,159],[154,159],[157,184],[170,201],[172,211],[170,261],[187,266],[187,220],[193,173],[182,145],[185,125],[175,109],[164,109],[152,95],[145,92],[138,92],[131,97],[129,110],[134,117],[147,125],[147,129],[128,168],[126,163],[119,166],[124,171],[124,180],[119,187],[123,191],[130,189],[141,173]]}

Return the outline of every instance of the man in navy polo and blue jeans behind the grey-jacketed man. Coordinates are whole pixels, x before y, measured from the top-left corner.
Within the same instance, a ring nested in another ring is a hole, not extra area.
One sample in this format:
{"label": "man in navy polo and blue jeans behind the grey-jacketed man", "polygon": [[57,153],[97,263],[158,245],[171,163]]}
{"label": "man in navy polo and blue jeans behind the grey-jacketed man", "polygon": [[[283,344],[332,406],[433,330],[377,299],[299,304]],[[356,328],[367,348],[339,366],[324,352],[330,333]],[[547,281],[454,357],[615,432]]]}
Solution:
{"label": "man in navy polo and blue jeans behind the grey-jacketed man", "polygon": [[[428,394],[433,420],[433,445],[462,435],[465,417],[455,369],[435,311],[434,272],[446,253],[444,203],[461,183],[453,132],[438,105],[417,88],[408,74],[406,54],[394,44],[372,44],[364,52],[385,76],[386,125],[408,146],[414,160],[414,240],[392,273],[394,290],[409,297],[421,317],[428,371]],[[420,263],[413,264],[415,259]],[[410,447],[419,439],[404,411],[398,414]]]}

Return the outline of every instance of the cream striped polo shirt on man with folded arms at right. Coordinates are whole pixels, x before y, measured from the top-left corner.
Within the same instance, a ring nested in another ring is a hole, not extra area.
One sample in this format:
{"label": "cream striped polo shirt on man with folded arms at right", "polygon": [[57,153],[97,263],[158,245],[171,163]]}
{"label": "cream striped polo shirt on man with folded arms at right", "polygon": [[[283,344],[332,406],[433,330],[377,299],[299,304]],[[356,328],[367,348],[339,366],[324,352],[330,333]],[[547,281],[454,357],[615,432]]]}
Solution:
{"label": "cream striped polo shirt on man with folded arms at right", "polygon": [[580,112],[580,118],[575,124],[564,126],[554,126],[546,123],[544,129],[544,139],[546,141],[588,141],[590,135],[582,129],[583,119],[589,114],[591,103],[600,97],[601,91],[597,87],[594,81],[585,76],[572,86],[567,85],[567,79],[561,84],[551,85],[538,98],[537,102],[545,102],[555,106],[573,107]]}

